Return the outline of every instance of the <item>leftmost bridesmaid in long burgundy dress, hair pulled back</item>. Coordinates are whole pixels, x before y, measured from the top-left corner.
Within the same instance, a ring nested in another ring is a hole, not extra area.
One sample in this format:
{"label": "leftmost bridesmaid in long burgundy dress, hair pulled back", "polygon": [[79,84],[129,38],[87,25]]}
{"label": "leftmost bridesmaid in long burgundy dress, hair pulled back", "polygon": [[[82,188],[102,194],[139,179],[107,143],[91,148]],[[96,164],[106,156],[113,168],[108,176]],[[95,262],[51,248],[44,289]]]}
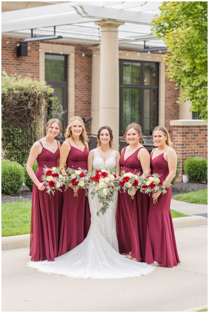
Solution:
{"label": "leftmost bridesmaid in long burgundy dress, hair pulled back", "polygon": [[[32,261],[54,261],[58,252],[62,193],[58,190],[49,195],[42,182],[43,167],[58,166],[60,157],[60,143],[55,137],[61,135],[62,126],[54,118],[46,124],[46,136],[36,141],[30,151],[27,162],[27,172],[33,184],[31,210],[31,238],[30,254]],[[37,160],[38,168],[33,172],[33,165]]]}

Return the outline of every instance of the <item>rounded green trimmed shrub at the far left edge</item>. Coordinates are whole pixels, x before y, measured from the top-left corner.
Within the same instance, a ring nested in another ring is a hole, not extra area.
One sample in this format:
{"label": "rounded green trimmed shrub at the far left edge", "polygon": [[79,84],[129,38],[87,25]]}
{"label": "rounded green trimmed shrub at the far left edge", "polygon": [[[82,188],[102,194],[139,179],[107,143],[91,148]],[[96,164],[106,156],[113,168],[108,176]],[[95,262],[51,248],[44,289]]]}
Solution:
{"label": "rounded green trimmed shrub at the far left edge", "polygon": [[17,193],[24,181],[22,166],[17,162],[2,162],[2,193]]}

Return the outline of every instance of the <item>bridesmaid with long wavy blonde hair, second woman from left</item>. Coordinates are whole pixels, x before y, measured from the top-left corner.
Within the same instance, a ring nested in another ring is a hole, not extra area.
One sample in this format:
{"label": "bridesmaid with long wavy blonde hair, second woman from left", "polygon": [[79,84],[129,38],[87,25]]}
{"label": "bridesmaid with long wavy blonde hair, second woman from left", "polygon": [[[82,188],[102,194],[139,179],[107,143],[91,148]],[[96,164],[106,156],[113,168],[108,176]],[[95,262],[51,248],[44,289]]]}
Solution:
{"label": "bridesmaid with long wavy blonde hair, second woman from left", "polygon": [[[66,132],[66,141],[60,149],[59,166],[63,169],[65,164],[77,170],[79,167],[87,170],[88,137],[84,122],[80,116],[71,117]],[[65,174],[65,170],[63,170]],[[87,236],[90,228],[90,210],[85,189],[63,188],[63,210],[60,232],[58,256],[65,254],[79,245]],[[74,191],[78,196],[74,197]]]}

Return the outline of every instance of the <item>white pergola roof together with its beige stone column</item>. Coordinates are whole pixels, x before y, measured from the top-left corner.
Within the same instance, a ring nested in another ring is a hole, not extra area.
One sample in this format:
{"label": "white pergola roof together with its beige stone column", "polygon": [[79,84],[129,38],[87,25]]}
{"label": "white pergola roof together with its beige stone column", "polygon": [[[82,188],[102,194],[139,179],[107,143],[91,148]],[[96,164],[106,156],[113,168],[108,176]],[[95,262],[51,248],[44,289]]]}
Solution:
{"label": "white pergola roof together with its beige stone column", "polygon": [[141,49],[144,42],[150,48],[164,46],[162,40],[150,34],[150,22],[160,5],[152,1],[66,2],[3,12],[2,33],[28,38],[32,29],[36,36],[43,36],[52,35],[56,27],[56,35],[63,39],[55,42],[88,44],[92,51],[99,48],[99,63],[97,58],[92,60],[92,71],[99,73],[92,80],[92,93],[99,90],[97,100],[91,101],[92,123],[97,130],[108,123],[118,149],[119,47]]}

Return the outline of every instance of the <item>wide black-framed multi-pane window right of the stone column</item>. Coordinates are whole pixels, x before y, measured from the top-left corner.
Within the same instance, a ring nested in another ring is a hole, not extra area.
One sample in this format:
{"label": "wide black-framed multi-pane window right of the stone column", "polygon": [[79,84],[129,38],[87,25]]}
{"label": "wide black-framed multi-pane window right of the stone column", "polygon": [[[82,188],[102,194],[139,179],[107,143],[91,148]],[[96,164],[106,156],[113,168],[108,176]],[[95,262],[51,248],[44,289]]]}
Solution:
{"label": "wide black-framed multi-pane window right of the stone column", "polygon": [[119,60],[120,133],[136,122],[151,135],[158,124],[158,64]]}

